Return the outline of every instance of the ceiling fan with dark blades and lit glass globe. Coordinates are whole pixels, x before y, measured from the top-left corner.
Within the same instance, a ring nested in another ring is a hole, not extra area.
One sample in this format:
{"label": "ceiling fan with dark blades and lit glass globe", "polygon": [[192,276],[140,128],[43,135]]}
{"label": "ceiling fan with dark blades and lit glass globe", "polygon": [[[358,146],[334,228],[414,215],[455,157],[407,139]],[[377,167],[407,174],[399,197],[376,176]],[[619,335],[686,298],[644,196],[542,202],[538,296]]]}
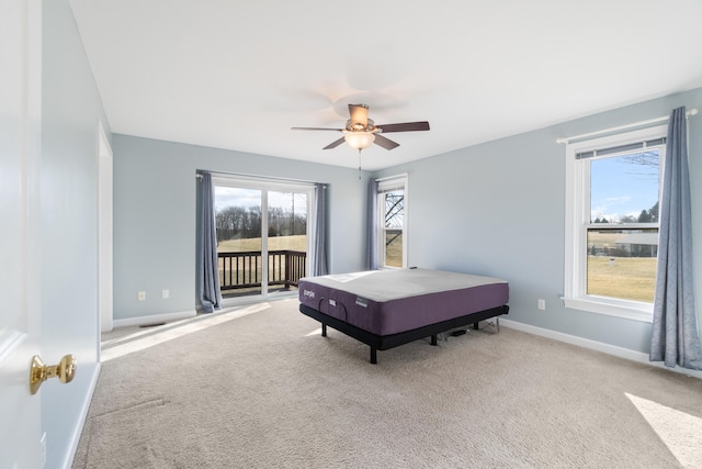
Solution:
{"label": "ceiling fan with dark blades and lit glass globe", "polygon": [[365,149],[373,145],[382,146],[385,149],[393,149],[398,147],[397,142],[393,142],[389,138],[381,135],[388,134],[390,132],[416,132],[428,131],[429,122],[405,122],[401,124],[385,124],[375,125],[372,119],[369,119],[369,107],[366,104],[349,104],[349,116],[347,120],[347,126],[343,129],[329,129],[329,127],[292,127],[293,131],[335,131],[343,132],[343,136],[339,139],[331,142],[322,149],[331,149],[347,142],[350,147],[359,150]]}

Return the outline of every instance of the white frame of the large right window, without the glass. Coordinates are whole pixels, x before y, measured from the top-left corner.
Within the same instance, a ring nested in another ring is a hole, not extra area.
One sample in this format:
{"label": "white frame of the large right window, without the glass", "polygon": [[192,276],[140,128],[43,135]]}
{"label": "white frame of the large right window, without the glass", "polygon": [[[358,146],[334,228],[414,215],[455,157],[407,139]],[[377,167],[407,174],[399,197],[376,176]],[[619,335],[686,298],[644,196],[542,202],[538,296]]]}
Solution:
{"label": "white frame of the large right window, without the glass", "polygon": [[[576,155],[598,148],[610,148],[665,137],[667,130],[667,125],[657,125],[566,145],[565,275],[564,295],[562,297],[566,308],[646,323],[653,321],[653,303],[587,294],[587,230],[592,226],[590,223],[589,163],[592,159],[577,159]],[[658,200],[660,201],[666,145],[656,145],[655,147],[660,148],[658,169]],[[631,150],[622,152],[608,155],[608,157],[631,153]],[[622,224],[621,227],[626,228],[632,225]],[[645,223],[637,224],[635,227],[659,227],[659,224]]]}

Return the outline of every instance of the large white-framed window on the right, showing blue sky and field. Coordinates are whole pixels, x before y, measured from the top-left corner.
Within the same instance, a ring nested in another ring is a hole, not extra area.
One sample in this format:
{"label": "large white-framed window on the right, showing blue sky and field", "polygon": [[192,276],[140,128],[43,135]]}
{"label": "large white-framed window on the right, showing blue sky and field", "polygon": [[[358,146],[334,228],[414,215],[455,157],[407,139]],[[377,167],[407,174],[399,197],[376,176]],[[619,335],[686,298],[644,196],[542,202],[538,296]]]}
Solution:
{"label": "large white-framed window on the right, showing blue sky and field", "polygon": [[650,321],[666,126],[570,144],[567,308]]}

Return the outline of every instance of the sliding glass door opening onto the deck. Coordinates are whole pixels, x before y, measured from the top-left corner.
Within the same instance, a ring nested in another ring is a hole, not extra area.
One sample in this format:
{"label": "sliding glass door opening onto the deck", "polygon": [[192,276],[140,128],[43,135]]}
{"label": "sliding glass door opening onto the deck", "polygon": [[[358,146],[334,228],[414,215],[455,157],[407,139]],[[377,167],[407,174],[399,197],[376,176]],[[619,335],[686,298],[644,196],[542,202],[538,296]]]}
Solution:
{"label": "sliding glass door opening onto the deck", "polygon": [[313,186],[223,176],[213,182],[225,304],[296,291],[307,273]]}

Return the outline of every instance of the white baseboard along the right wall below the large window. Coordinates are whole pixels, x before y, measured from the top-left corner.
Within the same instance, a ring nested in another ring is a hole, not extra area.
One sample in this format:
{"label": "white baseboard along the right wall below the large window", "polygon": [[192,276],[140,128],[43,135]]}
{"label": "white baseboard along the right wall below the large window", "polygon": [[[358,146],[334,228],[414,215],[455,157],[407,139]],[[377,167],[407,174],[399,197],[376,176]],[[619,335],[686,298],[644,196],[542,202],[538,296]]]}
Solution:
{"label": "white baseboard along the right wall below the large window", "polygon": [[644,354],[642,351],[631,350],[629,348],[618,347],[615,345],[604,344],[602,342],[590,340],[589,338],[582,338],[575,335],[564,334],[562,332],[551,331],[543,327],[536,327],[530,324],[518,323],[516,321],[505,320],[502,317],[500,317],[500,325],[505,327],[513,328],[516,331],[540,335],[542,337],[553,338],[554,340],[565,342],[566,344],[589,348],[591,350],[602,351],[603,354],[613,355],[615,357],[625,358],[627,360],[637,361],[639,364],[646,364],[652,367],[663,368],[668,371],[673,371],[680,375],[686,375],[693,378],[702,379],[702,371],[688,370],[686,368],[680,368],[680,367],[669,368],[660,362],[649,361],[648,354]]}

